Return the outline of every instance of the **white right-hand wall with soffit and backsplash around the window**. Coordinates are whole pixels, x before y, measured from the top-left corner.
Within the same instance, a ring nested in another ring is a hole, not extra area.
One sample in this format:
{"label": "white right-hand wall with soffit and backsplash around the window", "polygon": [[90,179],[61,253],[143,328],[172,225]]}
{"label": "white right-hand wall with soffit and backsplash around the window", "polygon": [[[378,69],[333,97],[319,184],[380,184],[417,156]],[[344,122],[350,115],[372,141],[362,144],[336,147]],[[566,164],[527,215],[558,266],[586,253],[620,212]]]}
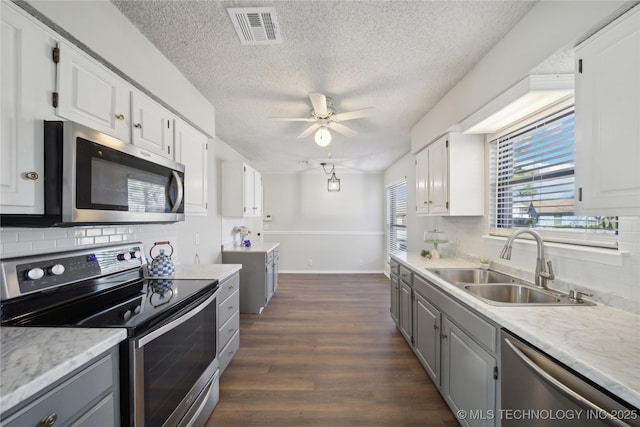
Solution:
{"label": "white right-hand wall with soffit and backsplash around the window", "polygon": [[[628,5],[629,2],[538,3],[513,31],[413,127],[412,151],[417,152],[447,129],[456,129],[460,121],[524,78],[540,62],[564,46],[574,46],[617,16],[621,6],[624,9]],[[486,152],[488,153],[488,147]],[[414,168],[411,160],[404,157],[396,162],[385,174],[385,183],[387,179],[392,180],[394,175],[398,175],[399,170]],[[485,186],[488,195],[488,179],[485,179]],[[415,185],[409,185],[408,191],[409,203],[412,203],[409,206],[415,206]],[[432,229],[436,222],[440,229],[449,234],[451,240],[450,244],[442,247],[441,252],[448,256],[457,255],[475,260],[487,256],[494,260],[494,267],[532,280],[535,244],[517,242],[513,247],[511,261],[499,259],[504,239],[487,236],[486,214],[482,217],[419,217],[410,208],[410,251],[429,249],[421,242],[420,236],[423,231]],[[620,218],[619,226],[619,251],[547,244],[547,255],[553,262],[557,278],[552,287],[587,290],[602,302],[639,312],[640,218]]]}

